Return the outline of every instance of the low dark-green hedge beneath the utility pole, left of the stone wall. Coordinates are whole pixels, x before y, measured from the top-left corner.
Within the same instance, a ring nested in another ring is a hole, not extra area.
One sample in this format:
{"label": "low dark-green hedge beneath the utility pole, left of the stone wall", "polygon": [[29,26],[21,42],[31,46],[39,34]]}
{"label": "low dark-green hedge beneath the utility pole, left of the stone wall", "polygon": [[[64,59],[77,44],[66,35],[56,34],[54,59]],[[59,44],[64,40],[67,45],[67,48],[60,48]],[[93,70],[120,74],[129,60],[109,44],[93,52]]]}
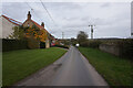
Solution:
{"label": "low dark-green hedge beneath the utility pole, left of the stone wall", "polygon": [[92,48],[99,48],[99,45],[101,44],[101,41],[98,40],[90,40],[81,43],[81,46],[83,47],[92,47]]}

